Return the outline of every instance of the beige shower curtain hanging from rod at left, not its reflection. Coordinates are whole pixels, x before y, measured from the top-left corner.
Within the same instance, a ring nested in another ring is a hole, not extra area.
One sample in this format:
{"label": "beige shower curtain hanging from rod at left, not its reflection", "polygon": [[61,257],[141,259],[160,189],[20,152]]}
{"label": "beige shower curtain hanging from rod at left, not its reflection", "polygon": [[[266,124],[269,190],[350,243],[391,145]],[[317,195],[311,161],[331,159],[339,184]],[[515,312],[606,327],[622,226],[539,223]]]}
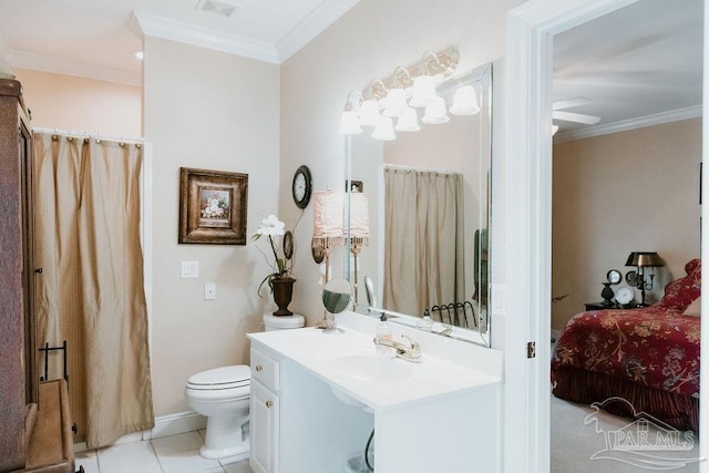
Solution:
{"label": "beige shower curtain hanging from rod at left, not its reflection", "polygon": [[[140,241],[143,150],[34,136],[38,343],[66,340],[75,440],[103,446],[154,425]],[[59,358],[50,358],[48,378],[60,378]]]}

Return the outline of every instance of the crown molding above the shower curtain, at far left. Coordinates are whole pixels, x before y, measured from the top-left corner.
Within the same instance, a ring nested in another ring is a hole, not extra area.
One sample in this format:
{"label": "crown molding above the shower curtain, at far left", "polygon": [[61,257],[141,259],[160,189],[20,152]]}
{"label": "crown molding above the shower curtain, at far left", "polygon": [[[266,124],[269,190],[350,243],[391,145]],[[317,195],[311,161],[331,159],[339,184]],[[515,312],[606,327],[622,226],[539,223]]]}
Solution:
{"label": "crown molding above the shower curtain, at far left", "polygon": [[12,68],[18,69],[28,69],[63,75],[75,75],[79,78],[95,79],[99,81],[115,82],[133,86],[141,86],[143,84],[143,74],[141,71],[111,69],[72,61],[65,58],[53,58],[49,55],[29,54],[14,51],[7,53],[6,60],[12,65]]}

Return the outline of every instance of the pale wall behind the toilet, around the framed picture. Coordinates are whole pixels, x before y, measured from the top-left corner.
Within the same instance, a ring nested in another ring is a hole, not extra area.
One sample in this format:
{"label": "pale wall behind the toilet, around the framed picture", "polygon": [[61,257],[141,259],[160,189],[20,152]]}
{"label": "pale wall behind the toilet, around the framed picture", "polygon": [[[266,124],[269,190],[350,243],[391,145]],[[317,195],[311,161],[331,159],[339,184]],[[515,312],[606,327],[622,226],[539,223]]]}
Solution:
{"label": "pale wall behind the toilet, around the framed picture", "polygon": [[[153,144],[152,373],[156,415],[187,409],[187,378],[248,363],[248,331],[275,309],[257,286],[269,273],[247,245],[178,245],[179,167],[248,174],[248,235],[278,212],[278,65],[146,38],[145,137]],[[181,278],[181,261],[199,277]],[[217,285],[204,300],[204,284]]]}

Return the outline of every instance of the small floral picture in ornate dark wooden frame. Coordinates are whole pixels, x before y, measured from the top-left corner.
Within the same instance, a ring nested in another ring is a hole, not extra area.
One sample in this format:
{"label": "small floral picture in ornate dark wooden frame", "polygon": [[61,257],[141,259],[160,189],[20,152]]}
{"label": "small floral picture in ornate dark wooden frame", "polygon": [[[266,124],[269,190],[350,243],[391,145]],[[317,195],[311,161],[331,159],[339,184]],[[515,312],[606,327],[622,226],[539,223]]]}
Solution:
{"label": "small floral picture in ornate dark wooden frame", "polygon": [[248,174],[179,168],[178,243],[246,245]]}

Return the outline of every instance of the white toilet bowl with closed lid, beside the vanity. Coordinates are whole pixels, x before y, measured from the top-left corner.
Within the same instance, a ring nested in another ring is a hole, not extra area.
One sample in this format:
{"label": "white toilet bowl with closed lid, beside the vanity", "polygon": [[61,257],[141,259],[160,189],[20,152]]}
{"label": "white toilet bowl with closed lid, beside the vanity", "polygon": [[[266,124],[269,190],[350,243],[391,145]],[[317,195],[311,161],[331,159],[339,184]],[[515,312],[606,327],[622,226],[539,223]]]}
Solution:
{"label": "white toilet bowl with closed lid, beside the vanity", "polygon": [[199,454],[205,459],[248,456],[248,402],[251,369],[222,367],[192,376],[185,398],[192,410],[207,418]]}

